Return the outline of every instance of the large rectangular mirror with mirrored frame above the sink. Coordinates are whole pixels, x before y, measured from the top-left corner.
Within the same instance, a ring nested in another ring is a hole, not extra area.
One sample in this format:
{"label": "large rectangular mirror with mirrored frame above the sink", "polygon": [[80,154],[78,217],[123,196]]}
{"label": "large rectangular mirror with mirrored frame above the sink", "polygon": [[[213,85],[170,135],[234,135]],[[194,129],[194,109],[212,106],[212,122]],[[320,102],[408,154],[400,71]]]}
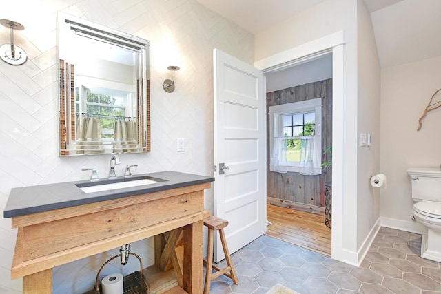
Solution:
{"label": "large rectangular mirror with mirrored frame above the sink", "polygon": [[150,151],[150,41],[58,22],[60,156]]}

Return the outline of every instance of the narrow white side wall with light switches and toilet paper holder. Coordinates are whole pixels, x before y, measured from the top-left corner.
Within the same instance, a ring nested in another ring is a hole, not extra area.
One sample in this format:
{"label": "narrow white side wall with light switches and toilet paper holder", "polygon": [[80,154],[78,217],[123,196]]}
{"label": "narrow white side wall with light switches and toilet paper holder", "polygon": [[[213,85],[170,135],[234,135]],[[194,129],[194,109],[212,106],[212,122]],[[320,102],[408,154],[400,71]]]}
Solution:
{"label": "narrow white side wall with light switches and toilet paper holder", "polygon": [[[371,15],[365,2],[358,0],[358,140],[360,134],[371,134],[372,145],[358,144],[357,187],[357,247],[360,254],[369,249],[369,240],[376,234],[380,223],[381,189],[369,184],[370,176],[380,169],[380,62],[373,34]],[[366,242],[364,244],[364,242]]]}

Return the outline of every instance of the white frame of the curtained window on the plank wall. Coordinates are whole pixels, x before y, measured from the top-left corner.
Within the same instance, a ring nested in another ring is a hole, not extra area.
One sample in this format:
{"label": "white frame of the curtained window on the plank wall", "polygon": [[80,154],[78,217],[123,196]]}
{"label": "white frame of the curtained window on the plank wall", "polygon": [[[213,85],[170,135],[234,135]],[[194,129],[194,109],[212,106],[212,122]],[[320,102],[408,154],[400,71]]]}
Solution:
{"label": "white frame of the curtained window on the plank wall", "polygon": [[[315,149],[318,154],[318,166],[322,164],[322,98],[291,102],[269,107],[269,152],[272,154],[274,138],[283,137],[283,116],[315,112]],[[296,138],[296,137],[286,137]],[[321,168],[321,167],[320,167]],[[287,161],[287,171],[299,172],[300,162]]]}

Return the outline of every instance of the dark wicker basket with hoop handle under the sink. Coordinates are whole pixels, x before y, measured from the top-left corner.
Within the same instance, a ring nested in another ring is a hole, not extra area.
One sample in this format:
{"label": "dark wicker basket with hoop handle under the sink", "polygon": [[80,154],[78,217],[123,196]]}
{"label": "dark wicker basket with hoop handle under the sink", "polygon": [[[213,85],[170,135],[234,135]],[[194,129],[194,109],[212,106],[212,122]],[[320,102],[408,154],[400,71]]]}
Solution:
{"label": "dark wicker basket with hoop handle under the sink", "polygon": [[[147,282],[145,282],[145,277],[143,275],[143,262],[141,261],[141,258],[139,258],[138,255],[135,253],[129,253],[129,255],[134,255],[139,260],[139,266],[140,271],[135,271],[134,273],[131,273],[130,275],[126,275],[123,280],[124,284],[124,294],[150,294],[149,287],[147,286]],[[96,282],[95,282],[95,293],[99,294],[101,293],[101,285],[99,284],[99,274],[101,273],[101,270],[103,267],[114,260],[115,258],[119,258],[120,255],[115,255],[113,258],[110,258],[107,260],[107,262],[104,262],[104,264],[99,269],[98,273],[96,274]]]}

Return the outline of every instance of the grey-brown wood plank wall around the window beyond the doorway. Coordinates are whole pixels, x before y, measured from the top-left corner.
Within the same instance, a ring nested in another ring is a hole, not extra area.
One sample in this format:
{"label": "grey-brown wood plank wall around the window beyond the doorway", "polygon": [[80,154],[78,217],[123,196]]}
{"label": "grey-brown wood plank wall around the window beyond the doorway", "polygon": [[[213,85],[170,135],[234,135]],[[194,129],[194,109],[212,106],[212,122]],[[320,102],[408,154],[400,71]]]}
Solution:
{"label": "grey-brown wood plank wall around the window beyond the doorway", "polygon": [[[324,213],[325,182],[332,179],[332,169],[323,168],[317,176],[269,171],[269,107],[322,98],[322,151],[332,145],[332,79],[267,93],[267,202],[312,213]],[[322,162],[327,161],[322,155]]]}

